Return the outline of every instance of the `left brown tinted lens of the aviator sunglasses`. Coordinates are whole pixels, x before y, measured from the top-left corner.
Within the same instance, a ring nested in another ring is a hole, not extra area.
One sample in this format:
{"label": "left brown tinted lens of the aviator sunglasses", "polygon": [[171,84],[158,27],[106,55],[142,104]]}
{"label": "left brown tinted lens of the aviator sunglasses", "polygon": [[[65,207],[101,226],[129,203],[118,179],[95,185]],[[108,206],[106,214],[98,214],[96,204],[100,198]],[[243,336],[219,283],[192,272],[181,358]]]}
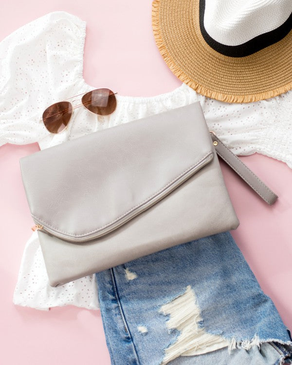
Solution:
{"label": "left brown tinted lens of the aviator sunglasses", "polygon": [[42,119],[49,132],[59,133],[66,128],[71,116],[72,104],[68,101],[61,101],[49,106],[44,111]]}

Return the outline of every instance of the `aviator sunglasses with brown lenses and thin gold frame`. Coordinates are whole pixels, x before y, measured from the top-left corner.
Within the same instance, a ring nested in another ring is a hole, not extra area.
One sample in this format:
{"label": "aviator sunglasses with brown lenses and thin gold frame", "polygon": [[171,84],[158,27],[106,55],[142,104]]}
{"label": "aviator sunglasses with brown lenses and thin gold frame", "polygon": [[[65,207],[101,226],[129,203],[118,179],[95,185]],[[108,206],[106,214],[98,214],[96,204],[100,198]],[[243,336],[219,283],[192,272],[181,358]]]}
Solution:
{"label": "aviator sunglasses with brown lenses and thin gold frame", "polygon": [[81,104],[73,106],[70,101],[67,101],[68,99],[56,102],[43,112],[41,121],[44,123],[49,132],[60,133],[69,124],[73,114],[73,109],[82,105],[84,105],[91,113],[97,115],[110,115],[115,111],[117,106],[115,94],[116,93],[113,93],[110,89],[101,88],[91,90],[84,95],[75,95],[68,99],[83,95]]}

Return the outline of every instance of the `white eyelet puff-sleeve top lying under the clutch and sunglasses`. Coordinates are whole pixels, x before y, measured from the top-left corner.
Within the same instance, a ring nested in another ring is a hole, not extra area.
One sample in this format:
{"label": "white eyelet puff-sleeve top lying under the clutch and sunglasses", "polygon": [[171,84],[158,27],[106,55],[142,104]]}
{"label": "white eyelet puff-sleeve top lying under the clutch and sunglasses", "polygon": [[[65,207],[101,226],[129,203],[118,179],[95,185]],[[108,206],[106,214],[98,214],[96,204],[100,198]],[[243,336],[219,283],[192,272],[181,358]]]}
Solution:
{"label": "white eyelet puff-sleeve top lying under the clutch and sunglasses", "polygon": [[[208,99],[185,84],[154,97],[117,95],[112,115],[100,117],[84,107],[76,108],[68,128],[50,134],[40,122],[46,107],[94,89],[83,79],[85,35],[85,21],[58,11],[22,26],[0,42],[0,145],[38,142],[44,149],[199,100],[210,130],[234,153],[258,152],[292,167],[292,91],[247,104]],[[36,232],[26,244],[13,300],[38,309],[66,304],[98,308],[93,276],[57,288],[48,284]]]}

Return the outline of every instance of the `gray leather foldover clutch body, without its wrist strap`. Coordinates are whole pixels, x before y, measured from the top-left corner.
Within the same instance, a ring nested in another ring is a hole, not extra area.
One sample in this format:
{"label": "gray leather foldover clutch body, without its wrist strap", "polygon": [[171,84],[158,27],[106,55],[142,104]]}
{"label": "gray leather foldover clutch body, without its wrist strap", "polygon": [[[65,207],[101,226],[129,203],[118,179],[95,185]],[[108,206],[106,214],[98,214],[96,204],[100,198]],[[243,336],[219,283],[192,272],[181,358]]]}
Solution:
{"label": "gray leather foldover clutch body, without its wrist strap", "polygon": [[20,166],[52,286],[239,224],[199,102]]}

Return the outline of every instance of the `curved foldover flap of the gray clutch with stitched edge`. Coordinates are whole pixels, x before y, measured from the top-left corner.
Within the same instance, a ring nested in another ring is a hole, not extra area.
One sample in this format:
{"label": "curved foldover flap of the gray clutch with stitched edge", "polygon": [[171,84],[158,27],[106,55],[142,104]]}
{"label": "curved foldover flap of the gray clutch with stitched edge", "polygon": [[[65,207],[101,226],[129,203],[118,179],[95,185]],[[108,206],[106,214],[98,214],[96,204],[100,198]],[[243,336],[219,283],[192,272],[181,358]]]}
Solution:
{"label": "curved foldover flap of the gray clutch with stitched edge", "polygon": [[20,166],[35,222],[85,242],[145,211],[213,157],[195,102],[39,151]]}

